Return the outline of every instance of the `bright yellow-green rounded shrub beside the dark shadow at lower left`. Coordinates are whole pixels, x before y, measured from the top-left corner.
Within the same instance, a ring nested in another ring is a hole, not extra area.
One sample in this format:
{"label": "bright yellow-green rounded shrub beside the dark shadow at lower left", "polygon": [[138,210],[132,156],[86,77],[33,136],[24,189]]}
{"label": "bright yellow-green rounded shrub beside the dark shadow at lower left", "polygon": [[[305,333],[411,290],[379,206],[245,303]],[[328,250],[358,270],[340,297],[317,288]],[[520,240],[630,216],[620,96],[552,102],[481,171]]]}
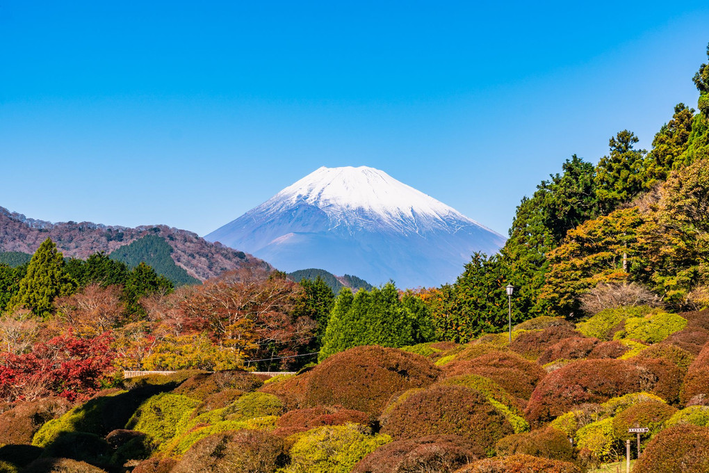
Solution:
{"label": "bright yellow-green rounded shrub beside the dark shadow at lower left", "polygon": [[125,428],[147,433],[160,445],[184,428],[199,401],[179,394],[158,394],[140,405]]}

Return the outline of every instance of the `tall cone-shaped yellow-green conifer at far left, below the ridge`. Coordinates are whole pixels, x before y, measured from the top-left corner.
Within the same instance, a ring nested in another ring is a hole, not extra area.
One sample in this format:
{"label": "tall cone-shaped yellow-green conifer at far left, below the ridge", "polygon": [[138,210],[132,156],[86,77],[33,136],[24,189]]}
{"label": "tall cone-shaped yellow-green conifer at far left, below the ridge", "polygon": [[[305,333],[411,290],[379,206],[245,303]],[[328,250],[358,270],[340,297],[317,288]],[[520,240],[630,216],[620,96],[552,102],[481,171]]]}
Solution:
{"label": "tall cone-shaped yellow-green conifer at far left, below the ridge", "polygon": [[9,307],[25,306],[38,316],[52,311],[52,302],[60,296],[72,294],[77,282],[64,271],[64,257],[50,238],[37,249],[27,267],[27,274],[19,282],[17,294]]}

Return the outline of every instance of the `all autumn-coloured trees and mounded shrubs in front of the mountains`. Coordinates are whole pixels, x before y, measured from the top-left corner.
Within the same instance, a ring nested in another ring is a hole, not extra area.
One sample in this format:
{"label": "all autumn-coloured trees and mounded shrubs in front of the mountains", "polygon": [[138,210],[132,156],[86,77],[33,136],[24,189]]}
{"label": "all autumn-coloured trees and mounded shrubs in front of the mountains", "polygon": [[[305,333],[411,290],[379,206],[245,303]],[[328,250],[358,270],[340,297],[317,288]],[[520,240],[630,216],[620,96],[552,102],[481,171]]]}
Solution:
{"label": "all autumn-coloured trees and mounded shrubs in front of the mountains", "polygon": [[0,265],[0,469],[584,473],[644,427],[632,473],[709,471],[709,65],[694,81],[698,113],[566,162],[440,288],[174,289],[46,239]]}

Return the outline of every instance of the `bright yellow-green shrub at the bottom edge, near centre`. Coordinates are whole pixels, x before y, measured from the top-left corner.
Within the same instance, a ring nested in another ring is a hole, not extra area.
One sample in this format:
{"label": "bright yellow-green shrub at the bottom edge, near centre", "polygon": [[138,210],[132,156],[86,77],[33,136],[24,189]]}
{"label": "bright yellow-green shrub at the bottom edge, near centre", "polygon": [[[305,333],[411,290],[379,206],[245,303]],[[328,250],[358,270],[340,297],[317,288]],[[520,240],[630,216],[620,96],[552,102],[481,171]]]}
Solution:
{"label": "bright yellow-green shrub at the bottom edge, near centre", "polygon": [[376,447],[391,442],[389,435],[371,435],[359,424],[318,427],[296,438],[283,473],[350,473]]}

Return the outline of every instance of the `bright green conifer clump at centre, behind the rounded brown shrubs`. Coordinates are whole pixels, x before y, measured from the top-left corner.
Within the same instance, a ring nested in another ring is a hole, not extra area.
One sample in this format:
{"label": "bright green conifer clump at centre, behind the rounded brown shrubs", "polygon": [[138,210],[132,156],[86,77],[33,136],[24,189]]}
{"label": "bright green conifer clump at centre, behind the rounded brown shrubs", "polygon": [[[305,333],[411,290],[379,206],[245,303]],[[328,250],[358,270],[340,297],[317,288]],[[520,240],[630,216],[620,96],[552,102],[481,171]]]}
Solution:
{"label": "bright green conifer clump at centre, behind the rounded brown shrubs", "polygon": [[320,360],[361,345],[403,347],[431,340],[430,313],[413,296],[399,298],[393,283],[352,295],[342,289],[325,330]]}

